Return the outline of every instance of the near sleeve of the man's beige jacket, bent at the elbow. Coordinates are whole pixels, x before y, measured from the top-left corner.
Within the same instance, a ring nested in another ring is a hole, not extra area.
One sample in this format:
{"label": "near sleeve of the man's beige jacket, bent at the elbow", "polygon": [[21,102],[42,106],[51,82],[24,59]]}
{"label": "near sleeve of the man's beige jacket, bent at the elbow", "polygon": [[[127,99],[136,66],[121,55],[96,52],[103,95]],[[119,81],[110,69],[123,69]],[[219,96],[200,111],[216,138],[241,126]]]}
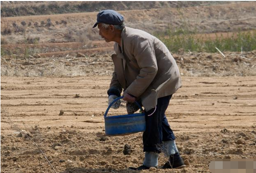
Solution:
{"label": "near sleeve of the man's beige jacket, bent at the elbow", "polygon": [[131,51],[137,60],[140,73],[126,89],[126,92],[139,97],[145,92],[157,74],[158,67],[154,42],[136,35],[131,40]]}

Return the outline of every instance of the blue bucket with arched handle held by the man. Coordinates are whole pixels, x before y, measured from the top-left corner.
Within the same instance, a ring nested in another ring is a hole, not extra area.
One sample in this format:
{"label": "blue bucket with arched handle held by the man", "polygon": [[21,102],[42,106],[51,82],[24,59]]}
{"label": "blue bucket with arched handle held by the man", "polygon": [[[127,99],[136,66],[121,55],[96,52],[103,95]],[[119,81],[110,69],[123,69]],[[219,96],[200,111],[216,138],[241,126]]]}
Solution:
{"label": "blue bucket with arched handle held by the man", "polygon": [[[109,116],[106,115],[109,112],[110,107],[122,97],[116,98],[106,109],[104,114],[105,120],[105,134],[108,136],[118,136],[118,135],[129,135],[138,132],[144,132],[146,129],[145,113],[140,114],[129,114],[129,115],[117,115]],[[138,102],[135,102],[141,112],[143,112],[142,107]]]}

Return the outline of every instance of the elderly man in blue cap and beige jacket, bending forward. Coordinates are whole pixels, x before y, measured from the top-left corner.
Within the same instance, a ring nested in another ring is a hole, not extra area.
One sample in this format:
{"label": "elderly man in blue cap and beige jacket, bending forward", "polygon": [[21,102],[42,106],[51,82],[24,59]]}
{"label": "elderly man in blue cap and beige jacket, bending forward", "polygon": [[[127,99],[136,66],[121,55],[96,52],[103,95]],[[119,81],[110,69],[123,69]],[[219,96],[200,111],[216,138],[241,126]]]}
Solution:
{"label": "elderly man in blue cap and beige jacket, bending forward", "polygon": [[[136,100],[145,109],[146,130],[142,137],[145,158],[141,166],[130,169],[157,167],[161,152],[169,156],[161,168],[185,167],[165,116],[170,98],[181,87],[175,59],[155,36],[125,27],[123,16],[114,10],[99,12],[93,28],[96,26],[106,42],[115,41],[116,54],[112,55],[115,69],[108,90],[109,104],[120,97],[123,90],[129,114],[138,110],[134,104]],[[118,107],[118,104],[113,106],[114,109]]]}

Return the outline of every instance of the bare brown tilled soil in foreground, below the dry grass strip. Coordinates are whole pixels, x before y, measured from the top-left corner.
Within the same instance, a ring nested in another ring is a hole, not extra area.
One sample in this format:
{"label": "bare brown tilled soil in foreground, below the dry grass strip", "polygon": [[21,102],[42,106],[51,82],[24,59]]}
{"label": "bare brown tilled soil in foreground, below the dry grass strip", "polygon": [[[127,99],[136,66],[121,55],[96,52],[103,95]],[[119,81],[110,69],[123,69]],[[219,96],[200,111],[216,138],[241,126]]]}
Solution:
{"label": "bare brown tilled soil in foreground, below the dry grass strip", "polygon": [[[31,134],[57,172],[133,172],[126,168],[143,161],[142,134],[104,137],[110,79],[2,77],[1,171],[53,172],[10,118]],[[208,164],[215,158],[255,158],[255,77],[183,77],[182,81],[166,112],[180,153],[189,162],[175,172],[209,172]],[[109,113],[123,115],[125,110]],[[125,144],[131,146],[131,155],[123,154]],[[161,154],[159,165],[165,161]]]}

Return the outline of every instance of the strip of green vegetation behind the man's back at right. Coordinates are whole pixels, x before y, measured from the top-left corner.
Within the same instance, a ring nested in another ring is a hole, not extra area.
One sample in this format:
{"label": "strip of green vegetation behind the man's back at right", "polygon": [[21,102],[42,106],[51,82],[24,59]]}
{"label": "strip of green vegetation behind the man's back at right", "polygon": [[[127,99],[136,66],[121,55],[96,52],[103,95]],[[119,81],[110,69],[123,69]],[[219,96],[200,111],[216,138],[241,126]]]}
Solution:
{"label": "strip of green vegetation behind the man's back at right", "polygon": [[170,52],[176,53],[180,49],[191,52],[217,52],[221,51],[239,52],[256,50],[256,30],[239,31],[228,37],[216,35],[210,38],[207,35],[199,35],[186,29],[168,30],[165,34],[157,36],[164,42]]}

